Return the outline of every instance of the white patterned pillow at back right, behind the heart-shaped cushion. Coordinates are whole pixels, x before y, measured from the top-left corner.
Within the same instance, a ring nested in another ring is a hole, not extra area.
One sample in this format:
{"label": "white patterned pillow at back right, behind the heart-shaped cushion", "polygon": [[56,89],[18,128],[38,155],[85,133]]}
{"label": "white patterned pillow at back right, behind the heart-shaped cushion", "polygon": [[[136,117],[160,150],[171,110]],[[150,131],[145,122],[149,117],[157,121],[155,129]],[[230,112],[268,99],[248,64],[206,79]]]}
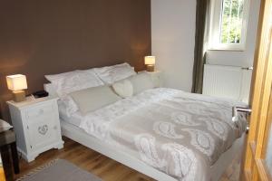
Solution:
{"label": "white patterned pillow at back right, behind the heart-shaped cushion", "polygon": [[106,84],[112,84],[115,81],[120,81],[136,74],[127,62],[108,67],[94,68],[94,71]]}

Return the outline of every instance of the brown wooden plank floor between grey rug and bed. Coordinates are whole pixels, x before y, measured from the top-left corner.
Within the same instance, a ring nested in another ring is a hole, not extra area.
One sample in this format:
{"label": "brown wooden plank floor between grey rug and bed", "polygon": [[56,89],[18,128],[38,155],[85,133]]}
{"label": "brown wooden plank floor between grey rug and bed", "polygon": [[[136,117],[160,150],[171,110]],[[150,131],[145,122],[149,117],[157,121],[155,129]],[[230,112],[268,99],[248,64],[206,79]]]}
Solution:
{"label": "brown wooden plank floor between grey rug and bed", "polygon": [[[104,181],[151,181],[149,176],[142,175],[141,173],[121,165],[120,163],[112,160],[111,158],[102,156],[101,154],[86,148],[69,138],[63,138],[64,148],[57,150],[52,149],[44,152],[39,157],[27,163],[24,159],[20,158],[21,173],[17,176],[12,176],[12,180],[24,176],[35,167],[43,166],[45,163],[55,159],[66,159],[78,167],[88,170],[92,174],[99,176]],[[228,179],[228,176],[232,178]],[[229,170],[222,177],[222,181],[235,181],[233,173]]]}

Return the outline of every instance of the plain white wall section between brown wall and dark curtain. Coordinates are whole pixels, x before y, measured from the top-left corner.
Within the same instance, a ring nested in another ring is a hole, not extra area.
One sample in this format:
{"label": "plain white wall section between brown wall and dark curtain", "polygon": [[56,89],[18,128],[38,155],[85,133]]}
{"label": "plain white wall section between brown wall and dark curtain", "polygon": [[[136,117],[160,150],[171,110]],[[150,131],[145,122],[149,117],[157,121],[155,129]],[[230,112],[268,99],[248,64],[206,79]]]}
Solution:
{"label": "plain white wall section between brown wall and dark curtain", "polygon": [[191,89],[195,15],[195,0],[151,0],[152,54],[167,87]]}

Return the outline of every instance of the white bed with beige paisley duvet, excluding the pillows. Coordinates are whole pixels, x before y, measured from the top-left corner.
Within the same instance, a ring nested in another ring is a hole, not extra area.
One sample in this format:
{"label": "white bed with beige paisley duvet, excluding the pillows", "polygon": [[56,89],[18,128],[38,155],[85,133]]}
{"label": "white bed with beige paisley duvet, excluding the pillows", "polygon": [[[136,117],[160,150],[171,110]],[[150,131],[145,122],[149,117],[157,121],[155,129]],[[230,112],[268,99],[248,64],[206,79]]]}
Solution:
{"label": "white bed with beige paisley duvet, excluding the pillows", "polygon": [[[44,89],[56,96],[53,84]],[[240,157],[246,119],[237,102],[154,88],[83,115],[67,116],[62,134],[156,180],[219,180]]]}

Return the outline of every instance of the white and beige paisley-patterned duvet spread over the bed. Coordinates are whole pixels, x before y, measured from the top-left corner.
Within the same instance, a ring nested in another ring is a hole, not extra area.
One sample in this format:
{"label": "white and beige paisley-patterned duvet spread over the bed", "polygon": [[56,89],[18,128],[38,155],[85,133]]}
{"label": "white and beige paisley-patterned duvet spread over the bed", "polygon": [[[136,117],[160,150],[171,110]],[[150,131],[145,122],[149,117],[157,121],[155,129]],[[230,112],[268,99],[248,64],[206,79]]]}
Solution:
{"label": "white and beige paisley-patterned duvet spread over the bed", "polygon": [[177,180],[209,180],[209,168],[246,129],[235,102],[158,88],[84,116],[80,128]]}

